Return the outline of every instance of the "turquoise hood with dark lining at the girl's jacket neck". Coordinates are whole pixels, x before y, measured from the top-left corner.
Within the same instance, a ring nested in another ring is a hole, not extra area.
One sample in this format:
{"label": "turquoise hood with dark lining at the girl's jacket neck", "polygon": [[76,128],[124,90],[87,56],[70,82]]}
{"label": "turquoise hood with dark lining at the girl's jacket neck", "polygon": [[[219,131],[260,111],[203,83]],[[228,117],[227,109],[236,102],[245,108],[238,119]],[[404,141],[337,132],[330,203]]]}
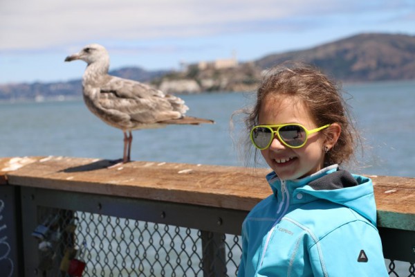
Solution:
{"label": "turquoise hood with dark lining at the girl's jacket neck", "polygon": [[[324,199],[353,209],[376,226],[374,188],[367,177],[352,175],[333,165],[302,179],[282,181],[275,172],[270,172],[266,179],[279,201],[282,201],[284,186],[297,203]],[[299,193],[306,197],[298,200]]]}

